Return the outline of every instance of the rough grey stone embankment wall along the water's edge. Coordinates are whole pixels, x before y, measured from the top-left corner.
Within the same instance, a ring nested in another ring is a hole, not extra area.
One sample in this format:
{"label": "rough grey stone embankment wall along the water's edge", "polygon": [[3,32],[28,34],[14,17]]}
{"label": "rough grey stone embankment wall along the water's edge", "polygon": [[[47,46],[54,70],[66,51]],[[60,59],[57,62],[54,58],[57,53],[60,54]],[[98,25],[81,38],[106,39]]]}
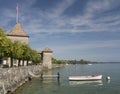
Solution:
{"label": "rough grey stone embankment wall along the water's edge", "polygon": [[41,65],[0,68],[0,94],[13,92],[29,80],[29,71],[38,74],[42,71]]}

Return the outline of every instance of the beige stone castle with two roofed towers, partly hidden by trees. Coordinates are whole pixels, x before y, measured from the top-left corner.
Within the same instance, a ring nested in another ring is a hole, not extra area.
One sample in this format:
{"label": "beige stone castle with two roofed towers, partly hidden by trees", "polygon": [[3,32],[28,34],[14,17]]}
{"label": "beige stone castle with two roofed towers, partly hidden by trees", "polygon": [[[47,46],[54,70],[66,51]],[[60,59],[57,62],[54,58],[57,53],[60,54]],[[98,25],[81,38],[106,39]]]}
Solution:
{"label": "beige stone castle with two roofed towers, partly hidden by trees", "polygon": [[[24,32],[20,23],[16,23],[13,29],[7,34],[7,37],[13,42],[19,41],[21,43],[26,43],[26,44],[29,43],[29,36]],[[43,49],[43,51],[39,51],[38,54],[40,54],[40,58],[42,59],[43,66],[45,68],[51,69],[52,68],[52,50],[46,47],[45,49]],[[8,58],[7,61],[10,66],[10,59]],[[15,62],[18,62],[18,61],[15,60]]]}

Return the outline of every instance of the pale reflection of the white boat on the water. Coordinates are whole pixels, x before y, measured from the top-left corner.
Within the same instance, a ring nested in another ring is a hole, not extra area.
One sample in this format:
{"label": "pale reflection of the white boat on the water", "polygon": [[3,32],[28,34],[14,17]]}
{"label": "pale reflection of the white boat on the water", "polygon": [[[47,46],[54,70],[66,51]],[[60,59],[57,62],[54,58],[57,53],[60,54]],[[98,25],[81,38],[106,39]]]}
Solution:
{"label": "pale reflection of the white boat on the water", "polygon": [[85,85],[85,84],[89,84],[89,85],[103,85],[102,80],[98,80],[98,81],[69,81],[69,85]]}

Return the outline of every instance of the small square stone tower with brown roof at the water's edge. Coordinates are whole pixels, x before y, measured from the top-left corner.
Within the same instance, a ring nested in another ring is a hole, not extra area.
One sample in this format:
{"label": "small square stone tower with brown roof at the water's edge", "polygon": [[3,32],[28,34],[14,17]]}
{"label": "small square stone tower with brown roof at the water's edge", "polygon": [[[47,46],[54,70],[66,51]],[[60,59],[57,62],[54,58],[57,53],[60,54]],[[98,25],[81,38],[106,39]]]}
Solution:
{"label": "small square stone tower with brown roof at the water's edge", "polygon": [[52,50],[48,47],[46,47],[42,51],[42,60],[43,60],[43,66],[45,68],[51,69],[52,68]]}

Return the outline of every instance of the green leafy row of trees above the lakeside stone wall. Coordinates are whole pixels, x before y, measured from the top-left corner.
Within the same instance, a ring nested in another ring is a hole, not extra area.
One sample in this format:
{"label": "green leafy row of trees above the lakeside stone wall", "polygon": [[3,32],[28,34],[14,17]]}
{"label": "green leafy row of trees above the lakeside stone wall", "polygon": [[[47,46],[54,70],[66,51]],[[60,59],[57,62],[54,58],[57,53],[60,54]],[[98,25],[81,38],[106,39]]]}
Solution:
{"label": "green leafy row of trees above the lakeside stone wall", "polygon": [[4,32],[0,28],[0,58],[11,57],[12,59],[33,61],[34,63],[41,61],[37,51],[19,41],[12,42],[6,37]]}

